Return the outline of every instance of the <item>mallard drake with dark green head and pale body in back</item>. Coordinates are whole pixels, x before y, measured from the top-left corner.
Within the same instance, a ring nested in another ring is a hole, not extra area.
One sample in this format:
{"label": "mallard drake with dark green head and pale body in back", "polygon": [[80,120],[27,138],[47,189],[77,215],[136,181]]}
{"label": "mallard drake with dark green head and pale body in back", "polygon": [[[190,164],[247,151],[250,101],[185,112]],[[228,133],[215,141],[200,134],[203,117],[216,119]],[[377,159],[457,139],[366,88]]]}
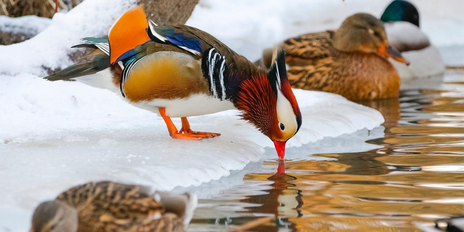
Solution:
{"label": "mallard drake with dark green head and pale body in back", "polygon": [[431,77],[445,72],[445,63],[438,49],[419,28],[419,12],[405,0],[394,0],[380,18],[385,22],[390,45],[411,62],[405,66],[393,62],[402,81],[413,77]]}

